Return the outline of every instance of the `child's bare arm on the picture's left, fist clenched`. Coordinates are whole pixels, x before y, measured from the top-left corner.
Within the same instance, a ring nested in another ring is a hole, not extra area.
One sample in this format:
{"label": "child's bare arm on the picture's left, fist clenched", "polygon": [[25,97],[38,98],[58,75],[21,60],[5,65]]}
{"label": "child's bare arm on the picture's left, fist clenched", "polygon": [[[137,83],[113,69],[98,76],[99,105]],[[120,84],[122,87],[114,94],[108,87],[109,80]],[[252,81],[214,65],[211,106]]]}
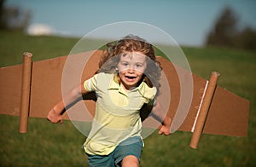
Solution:
{"label": "child's bare arm on the picture's left, fist clenched", "polygon": [[[81,94],[86,94],[87,91],[84,89],[84,84],[81,83],[76,88],[72,89],[67,95],[65,95],[65,104],[68,106],[74,101],[77,101]],[[62,112],[65,110],[64,101],[58,102],[48,113],[47,119],[52,123],[63,123]]]}

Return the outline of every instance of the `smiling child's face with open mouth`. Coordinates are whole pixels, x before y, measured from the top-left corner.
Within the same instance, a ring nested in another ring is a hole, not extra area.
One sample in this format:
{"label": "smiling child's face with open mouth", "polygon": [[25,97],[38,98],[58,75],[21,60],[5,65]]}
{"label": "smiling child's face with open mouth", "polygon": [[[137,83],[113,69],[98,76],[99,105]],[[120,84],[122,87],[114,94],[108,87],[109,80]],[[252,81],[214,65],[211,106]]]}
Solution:
{"label": "smiling child's face with open mouth", "polygon": [[118,64],[119,78],[125,89],[137,86],[137,83],[143,77],[146,66],[146,55],[139,52],[129,52],[120,56]]}

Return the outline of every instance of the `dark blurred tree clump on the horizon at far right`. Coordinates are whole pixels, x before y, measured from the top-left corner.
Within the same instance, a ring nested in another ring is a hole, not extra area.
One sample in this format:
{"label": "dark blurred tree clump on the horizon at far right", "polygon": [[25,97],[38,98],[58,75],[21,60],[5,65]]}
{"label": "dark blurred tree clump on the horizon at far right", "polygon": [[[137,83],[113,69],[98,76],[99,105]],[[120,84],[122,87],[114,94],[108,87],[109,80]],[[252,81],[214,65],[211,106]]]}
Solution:
{"label": "dark blurred tree clump on the horizon at far right", "polygon": [[256,31],[252,27],[239,27],[236,13],[225,7],[207,36],[206,45],[237,49],[256,49]]}

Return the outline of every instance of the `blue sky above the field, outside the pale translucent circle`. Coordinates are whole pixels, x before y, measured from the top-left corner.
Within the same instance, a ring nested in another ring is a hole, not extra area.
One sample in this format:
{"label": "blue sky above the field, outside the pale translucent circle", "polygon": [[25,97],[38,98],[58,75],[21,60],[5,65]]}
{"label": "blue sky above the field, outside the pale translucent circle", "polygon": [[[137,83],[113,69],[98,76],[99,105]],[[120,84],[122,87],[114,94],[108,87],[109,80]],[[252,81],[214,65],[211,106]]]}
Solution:
{"label": "blue sky above the field, outside the pale translucent circle", "polygon": [[235,11],[239,26],[256,28],[253,0],[7,0],[6,5],[30,9],[31,25],[43,24],[54,33],[80,37],[114,22],[140,21],[159,27],[181,45],[201,46],[225,6]]}

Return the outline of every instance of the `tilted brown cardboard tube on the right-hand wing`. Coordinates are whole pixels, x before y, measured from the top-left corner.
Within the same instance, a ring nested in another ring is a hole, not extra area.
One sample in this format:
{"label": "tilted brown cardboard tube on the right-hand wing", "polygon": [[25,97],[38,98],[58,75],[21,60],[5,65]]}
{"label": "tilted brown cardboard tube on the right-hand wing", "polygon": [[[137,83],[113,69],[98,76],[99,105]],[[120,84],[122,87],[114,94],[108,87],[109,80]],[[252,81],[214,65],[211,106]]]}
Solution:
{"label": "tilted brown cardboard tube on the right-hand wing", "polygon": [[214,91],[217,86],[218,76],[219,76],[218,72],[212,72],[211,78],[207,86],[206,95],[202,100],[201,111],[199,112],[199,116],[195,124],[195,130],[193,132],[193,135],[190,141],[190,147],[192,148],[198,147],[202,130],[207,120],[207,114],[212,103],[212,97],[214,95]]}

